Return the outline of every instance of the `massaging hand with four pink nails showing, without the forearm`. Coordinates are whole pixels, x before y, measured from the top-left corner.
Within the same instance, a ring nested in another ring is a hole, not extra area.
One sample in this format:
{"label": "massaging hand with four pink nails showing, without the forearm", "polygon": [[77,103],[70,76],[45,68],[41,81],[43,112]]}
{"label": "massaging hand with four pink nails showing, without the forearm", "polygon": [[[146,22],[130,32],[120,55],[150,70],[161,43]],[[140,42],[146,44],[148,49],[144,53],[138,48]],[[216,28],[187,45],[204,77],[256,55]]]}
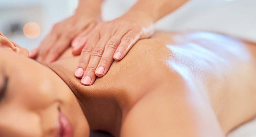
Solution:
{"label": "massaging hand with four pink nails showing, without the forearm", "polygon": [[104,76],[114,60],[119,61],[142,38],[154,33],[153,20],[142,12],[126,13],[120,18],[97,25],[81,52],[75,76],[83,85],[92,85]]}

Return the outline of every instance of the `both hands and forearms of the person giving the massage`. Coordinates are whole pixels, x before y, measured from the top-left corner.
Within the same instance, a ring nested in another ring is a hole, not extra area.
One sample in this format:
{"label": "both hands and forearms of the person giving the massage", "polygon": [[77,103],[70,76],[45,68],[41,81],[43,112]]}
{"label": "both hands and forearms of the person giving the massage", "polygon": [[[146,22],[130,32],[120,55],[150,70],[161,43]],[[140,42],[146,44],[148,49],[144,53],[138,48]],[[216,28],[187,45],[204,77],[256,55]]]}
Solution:
{"label": "both hands and forearms of the person giving the massage", "polygon": [[188,0],[138,0],[124,15],[101,21],[103,0],[80,0],[73,16],[54,25],[38,48],[30,52],[40,62],[56,61],[69,47],[79,55],[74,74],[81,84],[92,85],[114,60],[122,60],[140,39],[154,34],[154,23]]}

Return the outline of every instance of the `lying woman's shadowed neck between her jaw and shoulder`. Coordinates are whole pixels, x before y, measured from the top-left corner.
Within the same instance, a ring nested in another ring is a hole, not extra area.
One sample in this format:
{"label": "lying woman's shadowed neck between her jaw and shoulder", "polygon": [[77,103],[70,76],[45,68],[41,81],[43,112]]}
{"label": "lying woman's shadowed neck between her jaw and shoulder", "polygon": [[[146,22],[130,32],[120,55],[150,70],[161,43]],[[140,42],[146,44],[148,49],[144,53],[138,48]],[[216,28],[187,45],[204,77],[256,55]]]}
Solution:
{"label": "lying woman's shadowed neck between her jaw and shoulder", "polygon": [[[83,86],[80,79],[73,74],[73,67],[67,66],[74,62],[68,59],[47,66],[53,70],[76,95],[91,131],[106,131],[119,136],[122,122],[122,111],[111,92],[103,86]],[[71,69],[72,68],[72,69]]]}

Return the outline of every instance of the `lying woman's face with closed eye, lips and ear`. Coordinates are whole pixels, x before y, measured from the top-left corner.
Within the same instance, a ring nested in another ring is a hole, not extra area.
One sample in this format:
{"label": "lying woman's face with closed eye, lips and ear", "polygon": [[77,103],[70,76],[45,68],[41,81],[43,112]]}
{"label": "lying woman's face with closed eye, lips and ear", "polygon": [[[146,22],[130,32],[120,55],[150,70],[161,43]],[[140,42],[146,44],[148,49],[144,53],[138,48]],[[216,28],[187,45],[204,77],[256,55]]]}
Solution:
{"label": "lying woman's face with closed eye, lips and ear", "polygon": [[0,136],[89,136],[88,122],[69,87],[2,35],[0,44]]}

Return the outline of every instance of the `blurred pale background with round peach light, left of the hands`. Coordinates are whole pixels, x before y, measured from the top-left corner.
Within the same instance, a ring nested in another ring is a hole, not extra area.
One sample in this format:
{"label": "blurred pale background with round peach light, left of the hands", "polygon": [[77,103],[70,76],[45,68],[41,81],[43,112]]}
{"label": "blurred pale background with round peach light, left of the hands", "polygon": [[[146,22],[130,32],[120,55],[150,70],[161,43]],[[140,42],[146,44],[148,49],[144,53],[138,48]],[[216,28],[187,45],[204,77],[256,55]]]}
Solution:
{"label": "blurred pale background with round peach light, left of the hands", "polygon": [[1,0],[0,31],[31,50],[54,23],[72,15],[77,4],[77,0]]}

